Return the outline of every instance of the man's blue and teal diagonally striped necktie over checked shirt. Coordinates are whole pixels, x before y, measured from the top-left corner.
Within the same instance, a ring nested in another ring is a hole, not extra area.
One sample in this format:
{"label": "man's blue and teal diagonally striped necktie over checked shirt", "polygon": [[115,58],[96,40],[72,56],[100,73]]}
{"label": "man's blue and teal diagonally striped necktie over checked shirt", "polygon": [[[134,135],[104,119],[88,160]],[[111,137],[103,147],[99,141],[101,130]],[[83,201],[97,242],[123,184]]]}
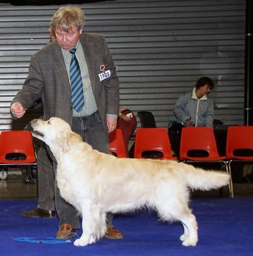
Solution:
{"label": "man's blue and teal diagonally striped necktie over checked shirt", "polygon": [[70,87],[71,87],[71,98],[72,98],[72,106],[74,110],[80,112],[80,110],[84,107],[83,100],[83,84],[80,67],[75,55],[76,48],[70,50],[72,54],[72,59],[70,62]]}

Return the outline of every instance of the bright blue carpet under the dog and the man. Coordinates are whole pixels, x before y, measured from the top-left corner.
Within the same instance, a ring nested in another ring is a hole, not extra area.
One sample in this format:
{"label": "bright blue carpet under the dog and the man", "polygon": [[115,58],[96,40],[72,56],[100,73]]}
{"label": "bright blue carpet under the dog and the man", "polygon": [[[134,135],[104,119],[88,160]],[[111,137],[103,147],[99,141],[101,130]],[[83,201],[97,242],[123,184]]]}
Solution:
{"label": "bright blue carpet under the dog and the man", "polygon": [[[37,201],[0,202],[1,256],[248,256],[253,255],[253,198],[194,198],[193,213],[198,221],[199,241],[196,247],[183,247],[180,223],[159,222],[148,210],[117,215],[113,224],[123,231],[125,239],[102,239],[93,245],[75,247],[71,243],[54,242],[58,220],[25,218],[20,212],[36,207]],[[78,230],[81,235],[81,230]],[[51,237],[51,239],[50,239]],[[30,238],[36,243],[16,241]],[[48,239],[49,238],[49,239]]]}

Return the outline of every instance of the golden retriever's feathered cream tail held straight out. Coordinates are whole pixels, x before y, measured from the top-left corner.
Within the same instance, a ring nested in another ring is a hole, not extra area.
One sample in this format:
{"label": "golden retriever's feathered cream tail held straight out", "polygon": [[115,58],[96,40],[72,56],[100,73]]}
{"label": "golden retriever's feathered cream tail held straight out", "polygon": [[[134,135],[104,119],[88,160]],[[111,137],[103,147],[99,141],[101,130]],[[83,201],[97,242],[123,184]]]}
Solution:
{"label": "golden retriever's feathered cream tail held straight out", "polygon": [[206,171],[201,168],[189,168],[186,175],[186,183],[190,188],[210,190],[220,188],[229,182],[229,175],[222,171]]}

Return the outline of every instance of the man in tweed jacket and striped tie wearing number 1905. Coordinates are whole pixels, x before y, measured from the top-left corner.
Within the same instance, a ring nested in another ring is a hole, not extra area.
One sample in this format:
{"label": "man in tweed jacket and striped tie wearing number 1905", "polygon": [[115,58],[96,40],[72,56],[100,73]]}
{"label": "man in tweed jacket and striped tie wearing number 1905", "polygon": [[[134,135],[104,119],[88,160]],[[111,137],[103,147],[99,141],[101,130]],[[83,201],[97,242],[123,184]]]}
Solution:
{"label": "man in tweed jacket and striped tie wearing number 1905", "polygon": [[[41,97],[44,120],[52,116],[64,119],[94,149],[109,153],[108,133],[117,125],[119,82],[104,37],[82,33],[83,25],[80,8],[63,6],[56,11],[51,20],[56,40],[32,55],[28,77],[11,102],[11,113],[15,118],[23,117]],[[48,153],[56,174],[57,163],[49,149]],[[74,207],[60,197],[57,186],[55,206],[60,220],[57,238],[69,239],[79,228],[79,220]],[[113,228],[111,214],[107,219],[106,236],[123,238]]]}

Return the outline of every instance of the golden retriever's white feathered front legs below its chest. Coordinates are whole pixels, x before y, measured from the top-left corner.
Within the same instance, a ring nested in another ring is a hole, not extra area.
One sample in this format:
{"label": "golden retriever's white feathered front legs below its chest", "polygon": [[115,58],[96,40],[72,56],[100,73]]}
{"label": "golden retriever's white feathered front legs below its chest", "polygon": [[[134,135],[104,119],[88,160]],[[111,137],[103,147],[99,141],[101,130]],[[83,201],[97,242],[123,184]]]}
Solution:
{"label": "golden retriever's white feathered front legs below its chest", "polygon": [[99,207],[94,204],[87,203],[81,208],[83,233],[74,242],[76,246],[95,243],[106,233],[106,213],[101,212]]}

